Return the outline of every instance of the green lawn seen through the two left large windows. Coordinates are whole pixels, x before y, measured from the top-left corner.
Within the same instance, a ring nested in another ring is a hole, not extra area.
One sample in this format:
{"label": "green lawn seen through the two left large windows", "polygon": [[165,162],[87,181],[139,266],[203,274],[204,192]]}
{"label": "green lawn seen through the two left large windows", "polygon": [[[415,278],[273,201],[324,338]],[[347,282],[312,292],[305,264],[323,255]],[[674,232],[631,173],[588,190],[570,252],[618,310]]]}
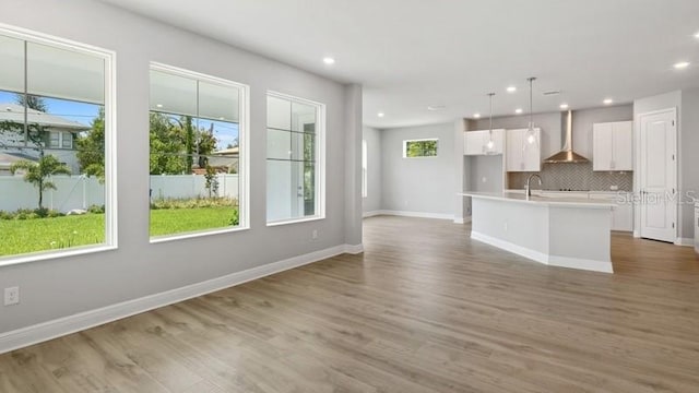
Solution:
{"label": "green lawn seen through the two left large windows", "polygon": [[[151,236],[228,227],[233,207],[151,211]],[[0,255],[96,245],[105,238],[104,214],[0,219]]]}

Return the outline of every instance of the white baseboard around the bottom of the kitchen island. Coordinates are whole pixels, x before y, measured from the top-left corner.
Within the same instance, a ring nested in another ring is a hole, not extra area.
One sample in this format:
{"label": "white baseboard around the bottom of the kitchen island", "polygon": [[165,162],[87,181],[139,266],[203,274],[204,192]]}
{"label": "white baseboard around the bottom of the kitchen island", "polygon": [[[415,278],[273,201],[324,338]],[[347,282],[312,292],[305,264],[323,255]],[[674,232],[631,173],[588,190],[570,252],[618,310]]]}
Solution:
{"label": "white baseboard around the bottom of the kitchen island", "polygon": [[588,271],[602,272],[602,273],[613,273],[611,261],[594,261],[594,260],[585,260],[585,259],[578,259],[578,258],[548,255],[541,251],[532,250],[532,249],[518,246],[509,241],[497,239],[491,236],[484,235],[473,230],[471,231],[471,238],[474,240],[484,242],[486,245],[500,248],[502,250],[516,253],[518,255],[522,255],[524,258],[528,258],[538,263],[543,263],[550,266],[588,270]]}

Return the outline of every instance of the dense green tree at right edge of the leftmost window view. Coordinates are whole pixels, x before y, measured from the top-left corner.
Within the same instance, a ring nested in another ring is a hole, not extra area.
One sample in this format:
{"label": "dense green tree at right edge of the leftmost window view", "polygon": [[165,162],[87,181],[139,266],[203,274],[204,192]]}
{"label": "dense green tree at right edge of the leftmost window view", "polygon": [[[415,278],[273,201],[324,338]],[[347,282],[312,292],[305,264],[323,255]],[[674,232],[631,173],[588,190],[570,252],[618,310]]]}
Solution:
{"label": "dense green tree at right edge of the leftmost window view", "polygon": [[78,162],[80,171],[105,181],[105,108],[100,107],[92,120],[92,129],[78,136]]}

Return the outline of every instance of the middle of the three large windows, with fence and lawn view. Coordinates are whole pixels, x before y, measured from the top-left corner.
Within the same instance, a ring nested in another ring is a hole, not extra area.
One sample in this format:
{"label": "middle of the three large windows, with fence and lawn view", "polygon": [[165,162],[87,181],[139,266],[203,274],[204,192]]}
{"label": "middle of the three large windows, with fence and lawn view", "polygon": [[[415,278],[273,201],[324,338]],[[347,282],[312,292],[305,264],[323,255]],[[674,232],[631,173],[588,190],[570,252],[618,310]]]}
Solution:
{"label": "middle of the three large windows, with fence and lawn view", "polygon": [[154,239],[246,227],[247,86],[151,66]]}

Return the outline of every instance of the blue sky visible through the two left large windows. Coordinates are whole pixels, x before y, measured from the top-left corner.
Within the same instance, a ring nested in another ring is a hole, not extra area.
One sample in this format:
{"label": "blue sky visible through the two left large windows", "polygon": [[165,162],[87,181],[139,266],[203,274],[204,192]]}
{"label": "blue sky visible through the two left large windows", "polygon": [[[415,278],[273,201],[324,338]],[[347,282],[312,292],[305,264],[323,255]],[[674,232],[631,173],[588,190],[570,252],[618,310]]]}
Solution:
{"label": "blue sky visible through the two left large windows", "polygon": [[[73,120],[85,126],[91,126],[92,120],[97,117],[97,112],[99,110],[99,106],[95,104],[46,97],[44,98],[44,102],[48,106],[48,114]],[[0,91],[0,104],[5,103],[15,104],[16,94]],[[211,124],[214,124],[216,150],[226,148],[228,144],[237,144],[238,123],[209,119],[196,119],[196,121],[199,121],[199,129],[203,128],[209,130]]]}

